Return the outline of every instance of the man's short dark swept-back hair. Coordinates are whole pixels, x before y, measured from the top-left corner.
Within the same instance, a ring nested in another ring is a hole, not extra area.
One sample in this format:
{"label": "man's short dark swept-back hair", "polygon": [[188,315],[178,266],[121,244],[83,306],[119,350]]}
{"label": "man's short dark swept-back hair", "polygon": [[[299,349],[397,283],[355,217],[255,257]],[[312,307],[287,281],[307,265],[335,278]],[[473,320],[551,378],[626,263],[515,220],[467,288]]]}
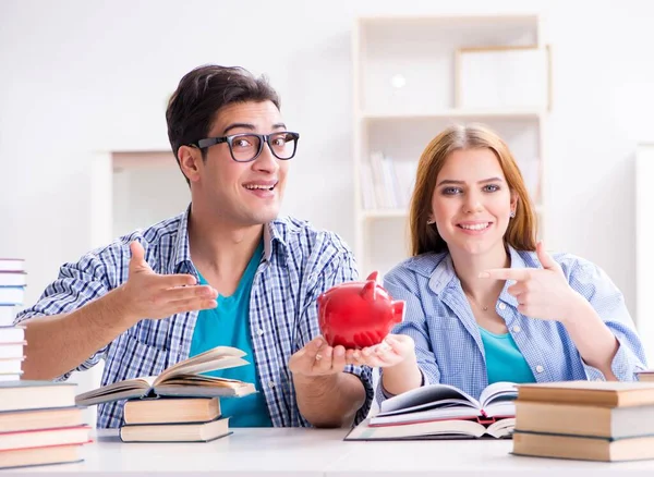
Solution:
{"label": "man's short dark swept-back hair", "polygon": [[[271,101],[280,109],[279,95],[268,81],[243,68],[207,64],[186,73],[166,110],[168,139],[178,164],[180,146],[207,137],[221,108],[247,101]],[[204,149],[202,157],[205,158]]]}

